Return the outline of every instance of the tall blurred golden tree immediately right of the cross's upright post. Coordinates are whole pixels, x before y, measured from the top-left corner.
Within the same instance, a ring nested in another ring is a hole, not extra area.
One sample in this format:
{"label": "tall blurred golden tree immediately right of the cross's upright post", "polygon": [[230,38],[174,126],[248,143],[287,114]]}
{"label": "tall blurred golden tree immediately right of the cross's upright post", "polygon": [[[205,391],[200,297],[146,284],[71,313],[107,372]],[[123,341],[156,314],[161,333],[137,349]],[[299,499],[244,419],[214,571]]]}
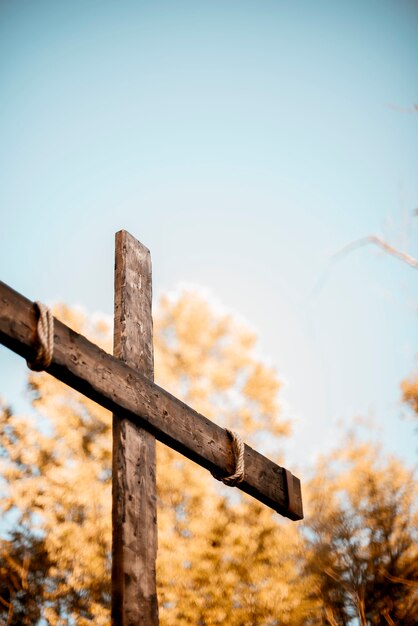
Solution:
{"label": "tall blurred golden tree immediately right of the cross's upright post", "polygon": [[[289,425],[278,419],[274,371],[254,358],[253,333],[187,292],[163,299],[156,333],[167,388],[259,449],[277,447]],[[278,533],[278,516],[170,449],[159,448],[157,468],[161,623],[273,624],[296,613],[292,525]]]}

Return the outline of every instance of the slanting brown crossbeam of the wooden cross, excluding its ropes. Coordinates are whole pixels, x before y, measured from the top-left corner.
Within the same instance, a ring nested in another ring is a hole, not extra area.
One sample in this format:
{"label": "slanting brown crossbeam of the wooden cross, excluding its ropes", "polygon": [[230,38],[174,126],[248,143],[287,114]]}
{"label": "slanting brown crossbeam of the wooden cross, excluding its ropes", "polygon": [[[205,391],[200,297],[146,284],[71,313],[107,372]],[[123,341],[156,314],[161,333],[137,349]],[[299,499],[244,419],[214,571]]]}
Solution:
{"label": "slanting brown crossbeam of the wooden cross, excluding its ropes", "polygon": [[[33,303],[0,282],[0,342],[31,360],[35,329]],[[207,470],[221,476],[233,473],[231,440],[225,429],[58,320],[47,372]],[[244,458],[245,479],[238,488],[285,517],[302,519],[299,479],[248,445]]]}

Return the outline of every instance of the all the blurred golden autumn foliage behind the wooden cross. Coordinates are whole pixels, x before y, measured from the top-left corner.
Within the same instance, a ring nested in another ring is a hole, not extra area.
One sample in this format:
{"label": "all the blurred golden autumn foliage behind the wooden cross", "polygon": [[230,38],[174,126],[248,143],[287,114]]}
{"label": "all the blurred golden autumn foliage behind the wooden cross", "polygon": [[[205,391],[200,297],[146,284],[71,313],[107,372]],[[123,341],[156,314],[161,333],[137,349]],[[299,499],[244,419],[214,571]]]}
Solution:
{"label": "all the blurred golden autumn foliage behind the wooden cross", "polygon": [[[111,328],[65,306],[58,318],[110,351]],[[280,464],[291,424],[256,337],[201,295],[163,297],[156,380]],[[0,620],[110,622],[111,416],[29,373],[35,416],[1,406]],[[417,380],[403,384],[417,413]],[[354,432],[303,480],[292,523],[158,445],[158,588],[163,626],[418,623],[412,470]],[[42,622],[41,622],[42,623]]]}

